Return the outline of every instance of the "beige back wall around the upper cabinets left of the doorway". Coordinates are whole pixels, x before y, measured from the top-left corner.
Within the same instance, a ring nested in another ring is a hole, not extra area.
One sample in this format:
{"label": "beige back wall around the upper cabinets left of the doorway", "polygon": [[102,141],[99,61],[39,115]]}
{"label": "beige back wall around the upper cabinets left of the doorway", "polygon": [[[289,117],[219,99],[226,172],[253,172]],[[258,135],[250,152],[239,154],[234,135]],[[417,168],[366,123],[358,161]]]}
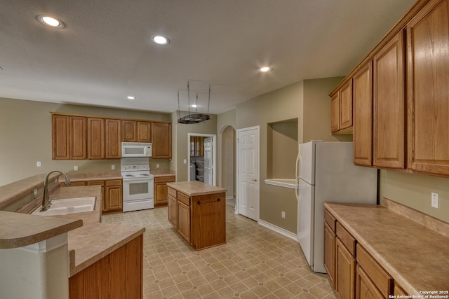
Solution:
{"label": "beige back wall around the upper cabinets left of the doorway", "polygon": [[[74,113],[89,116],[138,118],[170,121],[170,114],[128,111],[91,106],[75,106],[20,99],[0,98],[0,186],[25,179],[34,174],[45,174],[58,169],[79,172],[110,172],[111,165],[120,171],[120,160],[51,160],[50,112]],[[36,161],[42,166],[36,167]],[[168,169],[168,160],[150,160],[150,167]]]}

